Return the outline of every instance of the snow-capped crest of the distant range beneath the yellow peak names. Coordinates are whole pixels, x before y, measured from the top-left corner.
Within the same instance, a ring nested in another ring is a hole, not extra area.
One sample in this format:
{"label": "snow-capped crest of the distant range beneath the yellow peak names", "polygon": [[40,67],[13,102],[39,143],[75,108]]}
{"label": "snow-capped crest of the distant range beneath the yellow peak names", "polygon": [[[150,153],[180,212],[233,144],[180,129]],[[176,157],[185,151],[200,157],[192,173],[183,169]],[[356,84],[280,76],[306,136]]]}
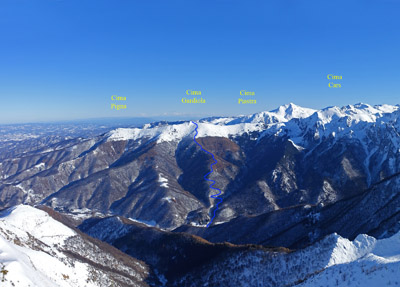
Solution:
{"label": "snow-capped crest of the distant range beneath the yellow peak names", "polygon": [[[355,104],[344,107],[327,107],[314,110],[293,103],[278,109],[247,116],[205,118],[198,121],[198,136],[230,138],[245,133],[257,132],[260,138],[271,134],[286,133],[293,142],[307,148],[304,137],[365,136],[368,125],[388,124],[397,128],[400,105]],[[117,128],[107,133],[107,140],[154,140],[157,143],[180,141],[192,133],[191,121],[156,122],[142,128]],[[353,135],[353,133],[356,133]],[[395,136],[397,139],[398,136]]]}

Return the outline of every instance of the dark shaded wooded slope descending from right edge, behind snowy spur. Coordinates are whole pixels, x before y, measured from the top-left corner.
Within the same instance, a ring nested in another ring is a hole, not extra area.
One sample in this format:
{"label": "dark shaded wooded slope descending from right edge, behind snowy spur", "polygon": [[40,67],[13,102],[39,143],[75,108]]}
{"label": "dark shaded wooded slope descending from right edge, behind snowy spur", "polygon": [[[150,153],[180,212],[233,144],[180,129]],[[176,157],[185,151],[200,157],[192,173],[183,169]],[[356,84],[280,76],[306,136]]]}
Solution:
{"label": "dark shaded wooded slope descending from right edge, behind snowy spur", "polygon": [[177,232],[199,235],[211,242],[229,241],[302,248],[331,233],[354,239],[368,233],[381,238],[400,229],[400,174],[333,204],[298,205],[258,216],[199,228],[182,226]]}

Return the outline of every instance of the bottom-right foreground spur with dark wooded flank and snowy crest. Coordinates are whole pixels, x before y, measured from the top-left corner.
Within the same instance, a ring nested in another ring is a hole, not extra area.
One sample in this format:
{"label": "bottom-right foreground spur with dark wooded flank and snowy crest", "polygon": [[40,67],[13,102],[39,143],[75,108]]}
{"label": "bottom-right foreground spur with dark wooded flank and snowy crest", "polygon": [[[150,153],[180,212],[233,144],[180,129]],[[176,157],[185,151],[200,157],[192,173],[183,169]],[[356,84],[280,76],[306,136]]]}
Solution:
{"label": "bottom-right foreground spur with dark wooded flank and snowy crest", "polygon": [[331,234],[295,252],[247,250],[216,258],[175,286],[399,286],[399,271],[400,233],[354,241]]}

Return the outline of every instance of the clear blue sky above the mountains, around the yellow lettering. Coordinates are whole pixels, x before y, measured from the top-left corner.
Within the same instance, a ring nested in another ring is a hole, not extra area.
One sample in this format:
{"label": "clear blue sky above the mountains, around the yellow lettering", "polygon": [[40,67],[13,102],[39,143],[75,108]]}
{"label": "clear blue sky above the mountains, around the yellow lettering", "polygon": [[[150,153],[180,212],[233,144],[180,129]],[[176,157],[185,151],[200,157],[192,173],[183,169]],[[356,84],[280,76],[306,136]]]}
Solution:
{"label": "clear blue sky above the mountains, around the yellow lettering", "polygon": [[[398,104],[400,1],[0,1],[0,123]],[[343,76],[328,88],[326,75]],[[182,104],[187,89],[207,103]],[[239,91],[256,105],[239,105]],[[112,111],[111,95],[127,98]]]}

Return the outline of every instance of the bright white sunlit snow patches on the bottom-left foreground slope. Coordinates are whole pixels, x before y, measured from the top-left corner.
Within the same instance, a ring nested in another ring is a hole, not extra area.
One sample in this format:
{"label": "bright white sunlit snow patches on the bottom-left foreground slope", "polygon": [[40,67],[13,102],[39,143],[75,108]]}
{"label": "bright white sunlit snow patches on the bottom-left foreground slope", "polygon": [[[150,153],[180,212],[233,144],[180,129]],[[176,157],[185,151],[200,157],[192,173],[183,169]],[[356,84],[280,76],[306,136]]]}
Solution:
{"label": "bright white sunlit snow patches on the bottom-left foreground slope", "polygon": [[[65,256],[52,248],[75,233],[44,211],[22,205],[9,209],[1,214],[0,228],[0,261],[8,271],[4,277],[9,286],[83,286],[86,283],[87,266],[64,264],[61,259]],[[34,250],[25,245],[36,240],[48,246],[47,250]],[[46,251],[55,252],[55,256]],[[67,276],[72,284],[64,279]]]}

